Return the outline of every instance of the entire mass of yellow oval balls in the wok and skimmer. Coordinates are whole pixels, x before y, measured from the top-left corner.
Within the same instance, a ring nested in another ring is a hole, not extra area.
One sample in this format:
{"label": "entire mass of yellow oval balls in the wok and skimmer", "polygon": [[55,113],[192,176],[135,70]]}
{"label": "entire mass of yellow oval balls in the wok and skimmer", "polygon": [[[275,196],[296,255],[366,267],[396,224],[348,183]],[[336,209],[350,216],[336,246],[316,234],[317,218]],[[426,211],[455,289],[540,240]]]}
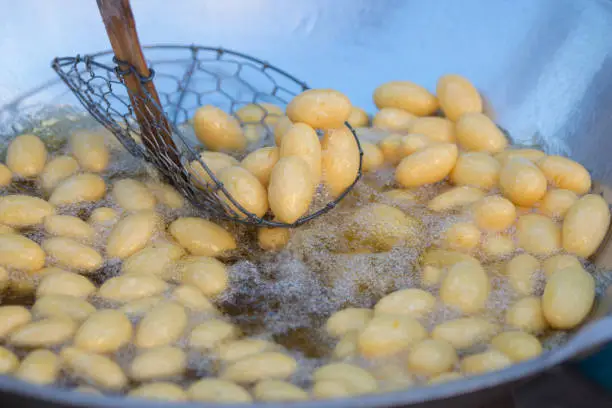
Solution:
{"label": "entire mass of yellow oval balls in the wok and skimmer", "polygon": [[[457,75],[442,77],[436,95],[389,82],[374,101],[371,127],[382,132],[362,140],[363,170],[392,171],[394,183],[380,187],[383,201],[351,209],[351,251],[419,241],[423,221],[400,202],[459,221],[420,253],[420,287],[329,317],[333,351],[306,382],[294,383],[302,368],[290,350],[243,337],[215,304],[230,281],[227,255],[241,245],[234,234],[190,216],[169,185],[112,177],[106,136],[84,131],[53,157],[38,137],[18,136],[0,164],[0,290],[34,300],[0,305],[0,374],[172,401],[338,398],[499,370],[538,356],[547,331],[583,323],[595,298],[585,259],[610,223],[584,167],[509,147],[475,87]],[[363,130],[370,118],[342,94],[309,90],[286,116],[273,105],[236,116],[274,127],[277,146],[238,162],[232,155],[257,129],[209,106],[193,124],[207,149],[201,160],[247,211],[292,223],[320,183],[333,195],[353,183],[359,149],[344,122]],[[203,187],[210,183],[198,162],[191,168]],[[36,195],[16,192],[24,181]],[[432,185],[436,195],[423,199],[421,188]],[[277,251],[291,233],[259,228],[257,237]],[[501,319],[488,310],[498,278],[513,299]],[[442,309],[453,318],[431,325]],[[212,368],[194,378],[203,361]]]}

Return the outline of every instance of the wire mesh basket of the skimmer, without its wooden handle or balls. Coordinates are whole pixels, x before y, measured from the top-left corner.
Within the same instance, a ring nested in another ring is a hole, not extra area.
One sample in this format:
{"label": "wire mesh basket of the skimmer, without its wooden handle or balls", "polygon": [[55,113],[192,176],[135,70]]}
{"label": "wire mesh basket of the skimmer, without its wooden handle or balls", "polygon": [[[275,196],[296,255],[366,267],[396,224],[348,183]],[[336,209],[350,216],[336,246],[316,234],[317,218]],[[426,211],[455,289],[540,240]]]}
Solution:
{"label": "wire mesh basket of the skimmer, without its wooden handle or balls", "polygon": [[[58,57],[51,66],[100,124],[110,130],[134,157],[152,163],[196,208],[245,224],[297,227],[334,208],[361,178],[363,151],[355,131],[345,123],[359,150],[359,170],[350,186],[334,200],[292,224],[274,221],[271,214],[261,218],[249,212],[200,159],[200,143],[190,134],[192,126],[189,121],[196,109],[203,105],[214,105],[234,116],[241,107],[255,105],[261,109],[258,120],[236,118],[243,129],[255,133],[251,149],[274,145],[273,125],[280,116],[265,104],[284,108],[295,95],[309,87],[266,61],[223,48],[154,45],[143,49],[151,69],[148,77],[142,77],[132,66],[118,61],[112,51]],[[161,106],[148,92],[144,92],[146,101],[131,103],[125,86],[129,75],[138,76],[141,86],[154,80]],[[172,135],[174,146],[159,140],[155,140],[153,146],[145,146],[143,134],[146,130],[141,129],[136,120],[136,114],[140,113],[138,109],[143,109],[143,106],[153,106],[156,110],[145,112],[146,117],[157,115],[166,119],[147,123],[147,127]],[[176,157],[179,159],[173,160]],[[208,181],[201,172],[194,170],[198,165],[208,175]]]}

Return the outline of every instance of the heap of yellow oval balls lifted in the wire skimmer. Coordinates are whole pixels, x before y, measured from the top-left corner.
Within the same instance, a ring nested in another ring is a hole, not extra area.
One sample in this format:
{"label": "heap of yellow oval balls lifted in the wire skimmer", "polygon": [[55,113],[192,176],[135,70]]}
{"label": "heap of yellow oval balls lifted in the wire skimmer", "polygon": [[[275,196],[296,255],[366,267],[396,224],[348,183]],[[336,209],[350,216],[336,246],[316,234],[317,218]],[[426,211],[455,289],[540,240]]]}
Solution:
{"label": "heap of yellow oval balls lifted in the wire skimmer", "polygon": [[[319,185],[337,197],[355,182],[360,154],[345,126],[350,114],[351,102],[345,95],[323,89],[297,95],[287,105],[286,115],[267,103],[246,105],[235,117],[203,106],[193,117],[195,135],[206,148],[190,165],[194,182],[209,188],[214,175],[249,214],[261,218],[270,210],[276,221],[293,224],[309,212]],[[264,126],[274,129],[276,146],[244,156],[249,144],[265,133]],[[317,131],[323,133],[321,139]],[[249,215],[220,195],[237,216]]]}

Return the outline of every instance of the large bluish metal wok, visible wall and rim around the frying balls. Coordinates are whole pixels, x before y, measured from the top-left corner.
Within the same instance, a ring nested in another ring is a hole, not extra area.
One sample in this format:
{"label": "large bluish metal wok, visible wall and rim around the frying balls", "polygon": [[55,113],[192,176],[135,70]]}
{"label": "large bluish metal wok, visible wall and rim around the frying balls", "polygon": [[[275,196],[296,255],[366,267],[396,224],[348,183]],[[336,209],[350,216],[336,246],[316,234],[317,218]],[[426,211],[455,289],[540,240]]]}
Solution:
{"label": "large bluish metal wok, visible wall and rim around the frying balls", "polygon": [[[312,87],[337,88],[370,111],[372,90],[381,82],[409,79],[433,89],[441,74],[465,75],[479,86],[489,112],[515,142],[539,144],[584,163],[612,202],[607,187],[612,186],[611,1],[133,0],[132,5],[144,43],[222,44],[274,62]],[[76,105],[63,84],[53,80],[49,61],[54,56],[108,44],[94,1],[0,0],[0,6],[5,10],[0,18],[0,135],[7,136],[18,130],[13,127],[24,113],[41,105]],[[594,262],[612,270],[611,243],[604,243]],[[611,305],[608,290],[588,324],[564,346],[535,360],[436,387],[326,401],[325,406],[481,406],[517,382],[611,341]],[[158,405],[8,377],[0,377],[0,401],[7,407]]]}

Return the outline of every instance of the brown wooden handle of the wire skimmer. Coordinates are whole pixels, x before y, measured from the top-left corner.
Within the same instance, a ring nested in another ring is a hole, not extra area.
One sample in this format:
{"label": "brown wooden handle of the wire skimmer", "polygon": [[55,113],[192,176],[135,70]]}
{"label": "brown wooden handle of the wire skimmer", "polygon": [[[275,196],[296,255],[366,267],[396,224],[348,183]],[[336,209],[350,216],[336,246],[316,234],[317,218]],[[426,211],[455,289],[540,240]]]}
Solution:
{"label": "brown wooden handle of the wire skimmer", "polygon": [[[151,71],[147,67],[138,40],[130,1],[97,0],[97,2],[115,57],[133,66],[141,77],[148,77]],[[155,157],[167,156],[180,167],[181,161],[172,140],[172,130],[160,110],[161,103],[153,81],[141,83],[138,75],[130,74],[125,75],[124,80],[140,125],[143,144]],[[157,103],[157,106],[151,99]],[[161,163],[164,162],[167,160]]]}

